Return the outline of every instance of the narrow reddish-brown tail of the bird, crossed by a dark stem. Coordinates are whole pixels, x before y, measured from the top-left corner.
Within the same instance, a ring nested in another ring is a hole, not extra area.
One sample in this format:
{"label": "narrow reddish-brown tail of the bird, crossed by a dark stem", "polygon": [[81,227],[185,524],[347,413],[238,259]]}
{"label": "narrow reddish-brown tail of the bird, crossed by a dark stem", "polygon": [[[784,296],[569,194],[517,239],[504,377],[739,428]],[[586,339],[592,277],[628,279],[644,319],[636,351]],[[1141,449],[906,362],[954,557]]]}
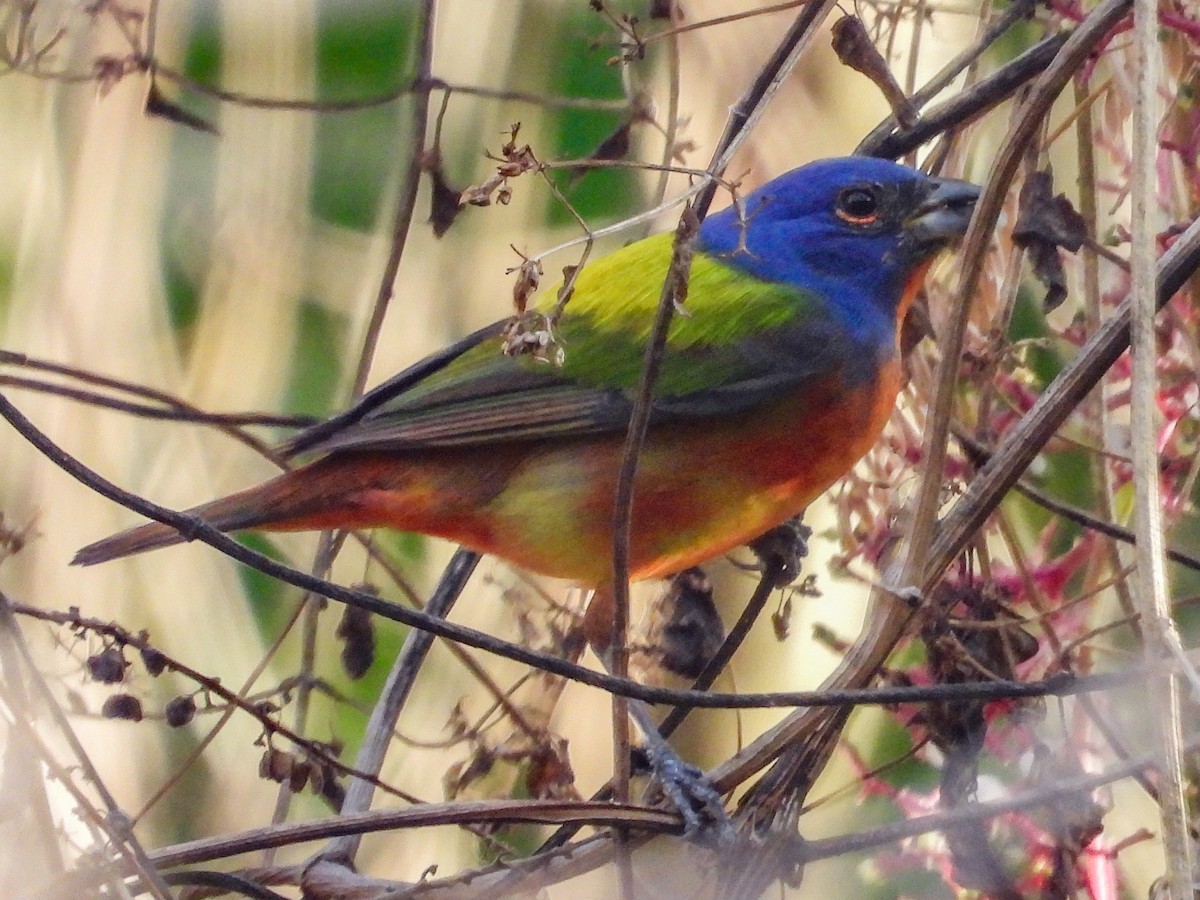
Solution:
{"label": "narrow reddish-brown tail of the bird, crossed by a dark stem", "polygon": [[[292,478],[294,474],[288,473],[257,487],[193,506],[187,510],[187,515],[202,518],[222,532],[242,528],[292,530],[302,527],[300,520],[308,511],[302,506],[311,508],[311,503],[304,503],[298,496],[300,492],[295,491],[295,479]],[[172,526],[148,522],[89,544],[74,554],[71,564],[96,565],[187,540],[191,538]]]}

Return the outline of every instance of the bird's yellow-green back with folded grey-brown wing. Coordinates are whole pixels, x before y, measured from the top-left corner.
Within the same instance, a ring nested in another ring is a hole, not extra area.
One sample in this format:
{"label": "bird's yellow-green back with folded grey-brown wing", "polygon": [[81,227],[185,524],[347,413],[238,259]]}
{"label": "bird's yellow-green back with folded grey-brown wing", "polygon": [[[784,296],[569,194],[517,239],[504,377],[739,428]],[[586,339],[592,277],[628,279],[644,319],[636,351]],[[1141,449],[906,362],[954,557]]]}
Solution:
{"label": "bird's yellow-green back with folded grey-brown wing", "polygon": [[[661,265],[640,265],[647,257]],[[376,388],[287,449],[396,451],[624,431],[668,259],[670,240],[652,238],[584,269],[559,322],[560,366],[505,355],[503,326],[492,325]],[[652,422],[748,412],[850,356],[844,330],[814,314],[811,298],[697,257],[688,306],[668,334]]]}

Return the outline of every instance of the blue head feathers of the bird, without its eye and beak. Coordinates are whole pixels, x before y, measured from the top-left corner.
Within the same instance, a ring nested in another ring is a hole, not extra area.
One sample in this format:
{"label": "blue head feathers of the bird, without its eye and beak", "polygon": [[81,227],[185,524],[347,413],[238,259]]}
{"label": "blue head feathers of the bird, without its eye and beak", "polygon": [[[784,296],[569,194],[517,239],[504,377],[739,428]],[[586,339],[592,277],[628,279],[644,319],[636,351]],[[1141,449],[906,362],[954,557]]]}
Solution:
{"label": "blue head feathers of the bird, without its eye and beak", "polygon": [[856,184],[926,181],[906,166],[871,157],[821,160],[751,193],[745,220],[731,206],[704,220],[700,248],[763,281],[827,298],[859,340],[894,340],[895,307],[912,264],[899,228],[864,232],[840,220],[838,194]]}

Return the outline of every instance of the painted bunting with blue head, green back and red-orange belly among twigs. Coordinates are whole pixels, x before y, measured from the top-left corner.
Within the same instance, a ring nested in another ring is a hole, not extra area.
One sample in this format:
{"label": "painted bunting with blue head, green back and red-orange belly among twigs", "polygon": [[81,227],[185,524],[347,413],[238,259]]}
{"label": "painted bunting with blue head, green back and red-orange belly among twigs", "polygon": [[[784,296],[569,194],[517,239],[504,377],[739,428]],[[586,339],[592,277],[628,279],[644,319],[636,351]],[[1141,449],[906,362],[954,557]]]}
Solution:
{"label": "painted bunting with blue head, green back and red-orange belly among twigs", "polygon": [[[744,215],[703,222],[635,482],[632,578],[797,515],[875,443],[901,385],[900,324],[977,196],[882,160],[824,160],[750,194]],[[223,530],[421,532],[604,588],[671,256],[659,234],[584,266],[558,325],[560,365],[505,355],[504,323],[481,329],[287,445],[312,462],[191,512]],[[143,524],[74,563],[181,540]]]}

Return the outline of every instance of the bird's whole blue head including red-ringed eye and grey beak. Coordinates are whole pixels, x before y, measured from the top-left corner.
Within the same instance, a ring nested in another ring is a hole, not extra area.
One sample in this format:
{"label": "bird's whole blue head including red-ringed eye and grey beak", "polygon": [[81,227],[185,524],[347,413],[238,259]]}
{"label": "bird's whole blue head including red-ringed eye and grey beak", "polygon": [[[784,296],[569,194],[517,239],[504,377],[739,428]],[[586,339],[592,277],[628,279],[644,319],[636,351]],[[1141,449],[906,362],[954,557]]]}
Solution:
{"label": "bird's whole blue head including red-ringed eye and grey beak", "polygon": [[[910,276],[961,236],[979,188],[887,160],[802,166],[707,218],[700,248],[750,275],[894,322]],[[866,322],[863,323],[868,325]]]}

